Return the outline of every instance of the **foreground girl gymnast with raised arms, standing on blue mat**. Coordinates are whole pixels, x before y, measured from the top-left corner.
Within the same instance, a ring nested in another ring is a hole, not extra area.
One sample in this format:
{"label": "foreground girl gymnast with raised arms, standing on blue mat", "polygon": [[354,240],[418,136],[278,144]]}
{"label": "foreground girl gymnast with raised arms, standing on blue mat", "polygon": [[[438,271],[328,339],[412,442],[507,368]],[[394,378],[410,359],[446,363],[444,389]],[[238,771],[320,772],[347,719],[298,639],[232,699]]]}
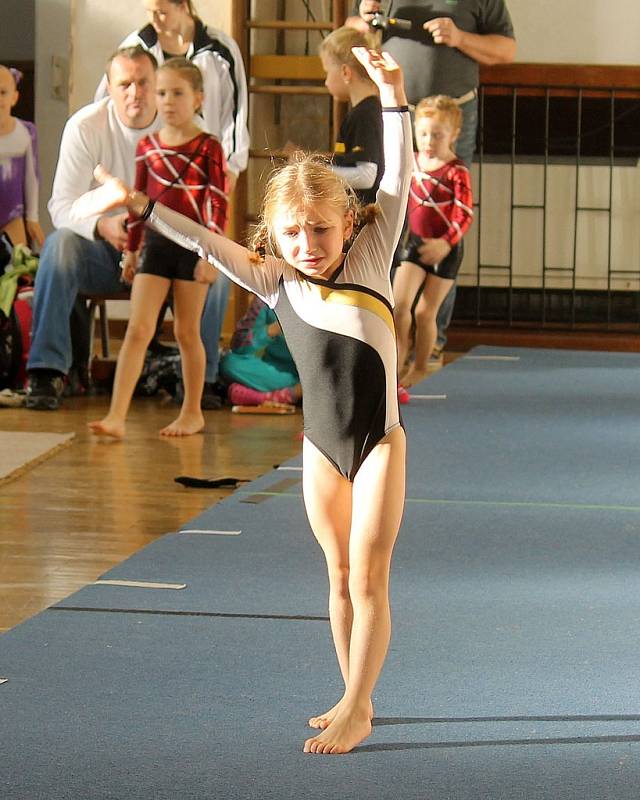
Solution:
{"label": "foreground girl gymnast with raised arms, standing on blue mat", "polygon": [[371,732],[371,694],[386,656],[389,569],[404,505],[405,434],[396,387],[389,279],[411,173],[402,73],[388,54],[356,54],[380,89],[386,169],[379,212],[351,243],[355,199],[317,157],[269,181],[256,241],[261,258],[98,168],[89,205],[127,205],[275,309],[303,389],[303,494],[329,573],[329,614],[345,689],[309,723],[306,753],[346,753]]}

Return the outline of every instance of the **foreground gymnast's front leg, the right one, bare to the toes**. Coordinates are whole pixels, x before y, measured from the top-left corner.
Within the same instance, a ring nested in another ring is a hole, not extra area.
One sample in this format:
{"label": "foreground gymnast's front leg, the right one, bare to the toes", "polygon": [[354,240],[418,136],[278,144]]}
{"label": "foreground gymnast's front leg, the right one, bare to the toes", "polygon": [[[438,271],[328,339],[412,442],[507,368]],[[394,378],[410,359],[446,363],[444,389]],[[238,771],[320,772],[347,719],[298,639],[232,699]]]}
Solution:
{"label": "foreground gymnast's front leg, the right one, bare to the toes", "polygon": [[305,753],[347,753],[371,732],[371,694],[389,646],[389,570],[405,492],[406,441],[397,428],[370,453],[353,483],[349,596],[353,607],[345,693]]}

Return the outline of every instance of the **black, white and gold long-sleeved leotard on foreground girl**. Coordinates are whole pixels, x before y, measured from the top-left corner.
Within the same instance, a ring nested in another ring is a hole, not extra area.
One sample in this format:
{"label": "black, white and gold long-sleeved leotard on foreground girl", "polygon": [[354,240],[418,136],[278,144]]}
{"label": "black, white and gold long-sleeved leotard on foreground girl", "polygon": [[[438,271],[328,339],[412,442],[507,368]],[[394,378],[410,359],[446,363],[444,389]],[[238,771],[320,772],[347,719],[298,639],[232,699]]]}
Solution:
{"label": "black, white and gold long-sleeved leotard on foreground girl", "polygon": [[273,308],[302,384],[305,436],[353,480],[378,442],[401,424],[390,268],[411,177],[409,114],[383,114],[380,212],[329,280],[281,258],[256,264],[247,250],[158,204],[149,222]]}

